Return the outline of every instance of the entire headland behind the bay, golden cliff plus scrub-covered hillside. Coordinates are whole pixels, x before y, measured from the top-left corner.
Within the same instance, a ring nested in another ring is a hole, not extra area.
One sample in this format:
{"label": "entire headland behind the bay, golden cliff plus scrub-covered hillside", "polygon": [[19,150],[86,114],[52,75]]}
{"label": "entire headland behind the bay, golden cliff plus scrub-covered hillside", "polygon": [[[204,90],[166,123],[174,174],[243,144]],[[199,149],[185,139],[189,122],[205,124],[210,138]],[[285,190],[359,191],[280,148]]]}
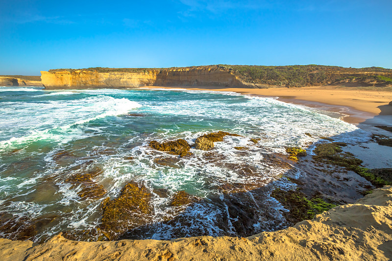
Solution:
{"label": "entire headland behind the bay, golden cliff plus scrub-covered hillside", "polygon": [[41,71],[46,88],[137,88],[194,86],[232,88],[304,87],[366,82],[392,86],[392,70],[321,65],[210,65],[173,68],[88,68]]}

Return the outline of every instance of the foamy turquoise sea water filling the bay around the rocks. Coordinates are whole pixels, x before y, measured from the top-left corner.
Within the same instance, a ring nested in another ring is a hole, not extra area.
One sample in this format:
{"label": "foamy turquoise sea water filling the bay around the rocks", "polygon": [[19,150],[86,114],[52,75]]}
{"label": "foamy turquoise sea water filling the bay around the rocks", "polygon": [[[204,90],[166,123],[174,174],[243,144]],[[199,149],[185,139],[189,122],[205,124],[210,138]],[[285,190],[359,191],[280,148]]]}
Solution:
{"label": "foamy turquoise sea water filling the bay around the rocks", "polygon": [[[287,169],[263,158],[285,153],[287,146],[306,147],[322,136],[348,143],[369,139],[339,114],[227,92],[0,87],[0,115],[0,213],[21,222],[50,219],[30,238],[36,241],[96,227],[101,201],[118,196],[130,181],[152,192],[154,206],[152,222],[135,228],[132,238],[242,236],[282,228],[279,204],[269,191],[293,185],[281,179]],[[147,147],[151,140],[178,138],[192,144],[213,131],[243,137],[215,142],[211,152],[218,161],[191,149],[194,156],[163,166],[154,159],[174,156]],[[254,144],[251,138],[261,140]],[[92,171],[107,194],[82,200],[80,188],[66,180]],[[199,201],[173,214],[169,203],[182,190]],[[242,205],[255,212],[251,231],[239,231],[236,222],[241,221],[232,216],[231,209]],[[11,237],[5,232],[0,236]]]}

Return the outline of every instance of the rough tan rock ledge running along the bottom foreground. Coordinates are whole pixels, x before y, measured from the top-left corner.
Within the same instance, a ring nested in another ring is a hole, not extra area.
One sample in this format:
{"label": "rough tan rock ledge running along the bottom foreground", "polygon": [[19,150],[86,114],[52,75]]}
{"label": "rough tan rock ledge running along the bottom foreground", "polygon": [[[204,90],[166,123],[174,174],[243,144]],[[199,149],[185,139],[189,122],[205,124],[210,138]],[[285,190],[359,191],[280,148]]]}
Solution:
{"label": "rough tan rock ledge running along the bottom foreground", "polygon": [[78,242],[60,235],[43,244],[0,239],[3,261],[44,260],[377,260],[392,257],[392,187],[312,220],[251,237],[189,237],[170,241]]}

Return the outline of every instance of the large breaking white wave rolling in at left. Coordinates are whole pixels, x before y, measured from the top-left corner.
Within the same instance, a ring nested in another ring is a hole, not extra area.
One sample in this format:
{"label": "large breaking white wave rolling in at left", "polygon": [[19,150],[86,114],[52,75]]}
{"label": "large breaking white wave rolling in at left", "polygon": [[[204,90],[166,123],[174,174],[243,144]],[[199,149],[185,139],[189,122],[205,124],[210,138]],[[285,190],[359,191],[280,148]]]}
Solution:
{"label": "large breaking white wave rolling in at left", "polygon": [[[27,105],[31,107],[33,104],[27,103]],[[29,111],[31,112],[34,108],[24,108],[28,119],[23,122],[19,122],[20,119],[16,119],[17,122],[15,122],[15,124],[19,123],[21,124],[21,127],[25,125],[30,126],[30,129],[26,131],[28,134],[0,141],[0,147],[14,146],[39,140],[67,143],[75,139],[86,138],[90,135],[86,135],[84,129],[80,126],[79,128],[74,128],[75,125],[81,125],[108,116],[123,115],[130,110],[141,106],[140,103],[126,98],[118,99],[101,95],[73,101],[52,101],[49,102],[49,104],[44,104],[45,109],[52,112],[50,118],[39,119],[40,115],[37,115],[37,118],[33,118],[34,114],[29,115]],[[38,109],[38,113],[41,110],[41,107],[42,106],[35,108]],[[17,108],[15,109],[18,110]],[[30,120],[31,122],[29,123],[27,120]],[[10,123],[12,123],[12,119],[4,122],[7,126],[10,125]],[[51,126],[42,130],[36,130],[39,128],[39,124]],[[15,127],[15,125],[13,127]]]}

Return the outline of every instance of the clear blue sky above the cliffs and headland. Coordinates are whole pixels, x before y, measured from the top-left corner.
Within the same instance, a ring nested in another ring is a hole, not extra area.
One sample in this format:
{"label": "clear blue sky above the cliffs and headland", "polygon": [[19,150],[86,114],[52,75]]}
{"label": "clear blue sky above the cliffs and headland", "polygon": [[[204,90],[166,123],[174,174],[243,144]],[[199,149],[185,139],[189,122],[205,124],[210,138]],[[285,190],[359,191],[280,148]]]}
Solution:
{"label": "clear blue sky above the cliffs and headland", "polygon": [[210,64],[392,68],[391,0],[0,0],[0,74]]}

